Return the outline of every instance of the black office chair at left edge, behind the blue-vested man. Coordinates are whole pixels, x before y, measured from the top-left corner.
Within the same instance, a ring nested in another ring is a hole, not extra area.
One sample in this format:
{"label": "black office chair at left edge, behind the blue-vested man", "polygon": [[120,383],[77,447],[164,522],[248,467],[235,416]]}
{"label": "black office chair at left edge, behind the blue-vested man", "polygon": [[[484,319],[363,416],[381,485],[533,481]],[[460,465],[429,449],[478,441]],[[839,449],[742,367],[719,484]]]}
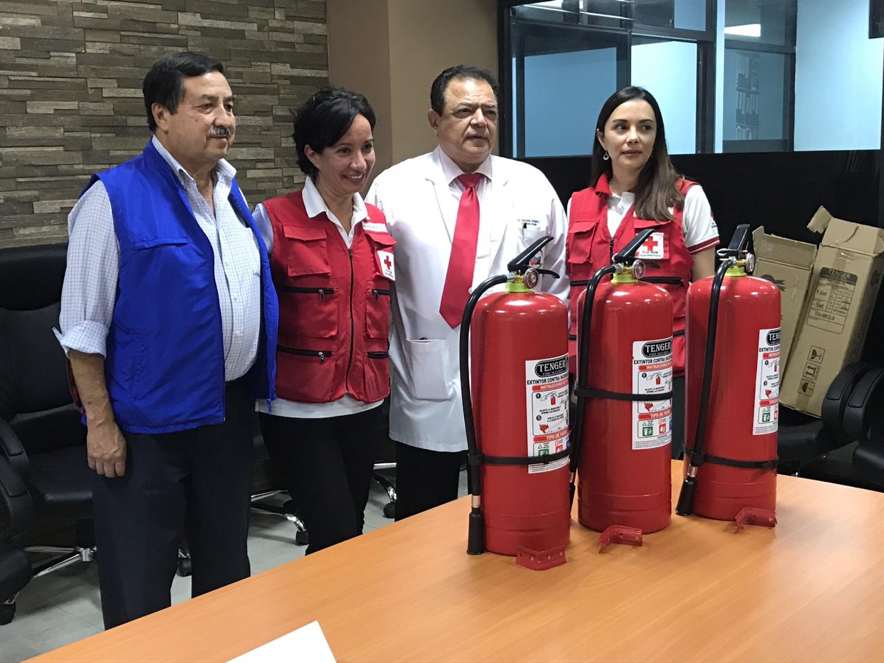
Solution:
{"label": "black office chair at left edge, behind the blue-vested man", "polygon": [[49,554],[34,577],[95,554],[86,429],[73,405],[58,325],[65,246],[0,251],[0,454],[27,486],[40,519],[77,522],[74,545]]}

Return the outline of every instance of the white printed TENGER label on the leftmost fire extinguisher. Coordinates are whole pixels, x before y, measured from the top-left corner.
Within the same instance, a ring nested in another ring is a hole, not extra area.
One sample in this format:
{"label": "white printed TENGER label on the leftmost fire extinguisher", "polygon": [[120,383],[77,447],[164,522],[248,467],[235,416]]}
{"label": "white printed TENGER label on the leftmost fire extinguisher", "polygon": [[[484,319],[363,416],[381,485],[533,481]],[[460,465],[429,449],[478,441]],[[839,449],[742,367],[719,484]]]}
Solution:
{"label": "white printed TENGER label on the leftmost fire extinguisher", "polygon": [[[528,455],[546,456],[568,447],[568,354],[525,362]],[[528,466],[529,474],[568,465],[568,457]]]}

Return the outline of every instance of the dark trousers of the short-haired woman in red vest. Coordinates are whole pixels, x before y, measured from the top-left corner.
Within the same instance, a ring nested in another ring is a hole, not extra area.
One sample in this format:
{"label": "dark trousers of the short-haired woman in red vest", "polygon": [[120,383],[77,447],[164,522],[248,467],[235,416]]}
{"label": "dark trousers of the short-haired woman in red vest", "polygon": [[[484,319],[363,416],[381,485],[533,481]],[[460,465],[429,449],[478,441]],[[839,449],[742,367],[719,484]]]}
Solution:
{"label": "dark trousers of the short-haired woman in red vest", "polygon": [[362,534],[381,408],[321,419],[261,415],[271,461],[307,525],[307,554]]}

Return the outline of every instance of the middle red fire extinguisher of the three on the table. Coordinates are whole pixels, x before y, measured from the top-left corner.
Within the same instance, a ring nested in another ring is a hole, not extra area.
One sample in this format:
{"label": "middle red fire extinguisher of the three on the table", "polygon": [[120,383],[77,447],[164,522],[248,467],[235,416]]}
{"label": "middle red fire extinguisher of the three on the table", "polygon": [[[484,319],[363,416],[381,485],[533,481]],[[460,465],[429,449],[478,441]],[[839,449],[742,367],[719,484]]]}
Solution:
{"label": "middle red fire extinguisher of the three on the table", "polygon": [[593,275],[577,316],[578,520],[636,536],[662,530],[672,512],[672,299],[639,280],[644,264],[635,259],[651,232]]}

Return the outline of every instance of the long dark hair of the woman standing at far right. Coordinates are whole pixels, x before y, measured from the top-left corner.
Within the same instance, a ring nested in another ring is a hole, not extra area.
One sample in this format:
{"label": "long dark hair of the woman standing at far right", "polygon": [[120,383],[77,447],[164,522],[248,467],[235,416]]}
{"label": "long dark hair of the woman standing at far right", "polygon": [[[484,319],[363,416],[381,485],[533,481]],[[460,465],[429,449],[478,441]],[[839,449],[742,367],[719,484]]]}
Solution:
{"label": "long dark hair of the woman standing at far right", "polygon": [[653,95],[644,88],[622,88],[609,96],[598,113],[596,132],[592,135],[592,174],[590,186],[598,184],[598,178],[605,174],[611,179],[611,161],[603,158],[605,149],[598,142],[598,132],[605,133],[605,124],[611,114],[621,103],[640,99],[647,102],[654,111],[657,122],[657,138],[651,152],[651,158],[644,164],[644,168],[638,174],[636,182],[636,216],[654,221],[667,221],[673,218],[669,208],[682,210],[684,208],[684,195],[675,187],[682,175],[675,171],[675,166],[669,159],[666,148],[666,129],[663,126],[663,116]]}

